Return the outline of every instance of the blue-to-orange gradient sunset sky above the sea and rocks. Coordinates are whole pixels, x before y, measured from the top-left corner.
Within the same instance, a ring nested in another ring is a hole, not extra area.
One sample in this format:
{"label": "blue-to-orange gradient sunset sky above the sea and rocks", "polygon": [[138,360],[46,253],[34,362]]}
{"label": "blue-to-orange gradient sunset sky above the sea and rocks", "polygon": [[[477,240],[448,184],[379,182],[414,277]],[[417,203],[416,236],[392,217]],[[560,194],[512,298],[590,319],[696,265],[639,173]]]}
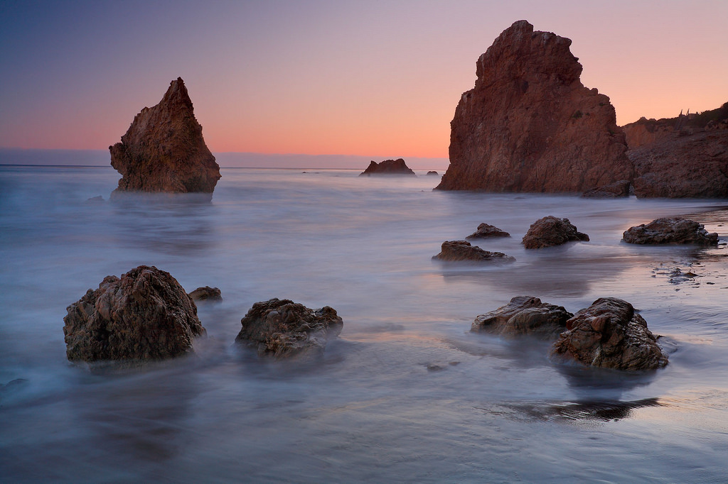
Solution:
{"label": "blue-to-orange gradient sunset sky above the sea and rocks", "polygon": [[0,148],[106,150],[181,76],[213,153],[446,158],[516,20],[572,40],[617,124],[728,101],[725,0],[0,0]]}

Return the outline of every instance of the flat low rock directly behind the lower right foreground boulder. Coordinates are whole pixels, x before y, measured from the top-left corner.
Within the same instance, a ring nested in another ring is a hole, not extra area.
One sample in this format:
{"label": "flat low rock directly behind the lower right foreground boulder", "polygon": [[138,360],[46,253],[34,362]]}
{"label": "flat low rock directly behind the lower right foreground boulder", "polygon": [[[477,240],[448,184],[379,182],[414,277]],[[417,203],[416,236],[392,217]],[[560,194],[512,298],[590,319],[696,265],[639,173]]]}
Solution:
{"label": "flat low rock directly behind the lower right foreground boulder", "polygon": [[472,331],[555,337],[566,330],[566,320],[573,316],[563,307],[541,302],[537,297],[516,296],[505,306],[475,318]]}

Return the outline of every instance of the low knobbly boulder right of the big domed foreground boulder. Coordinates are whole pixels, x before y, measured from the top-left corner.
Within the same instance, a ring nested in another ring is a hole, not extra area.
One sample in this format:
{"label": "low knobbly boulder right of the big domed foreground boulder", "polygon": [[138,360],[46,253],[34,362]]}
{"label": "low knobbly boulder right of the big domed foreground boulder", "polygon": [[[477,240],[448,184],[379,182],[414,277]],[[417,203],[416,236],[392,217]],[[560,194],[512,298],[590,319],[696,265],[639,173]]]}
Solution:
{"label": "low knobbly boulder right of the big domed foreground boulder", "polygon": [[344,326],[332,307],[312,310],[290,299],[256,302],[240,323],[236,342],[276,358],[322,355],[327,340],[339,336]]}

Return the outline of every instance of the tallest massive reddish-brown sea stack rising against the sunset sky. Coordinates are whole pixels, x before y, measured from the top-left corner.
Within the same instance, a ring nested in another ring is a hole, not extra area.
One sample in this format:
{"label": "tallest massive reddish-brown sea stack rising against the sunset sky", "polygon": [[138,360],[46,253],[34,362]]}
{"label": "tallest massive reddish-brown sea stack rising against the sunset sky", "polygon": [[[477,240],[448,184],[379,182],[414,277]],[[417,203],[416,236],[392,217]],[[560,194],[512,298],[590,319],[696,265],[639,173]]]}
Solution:
{"label": "tallest massive reddish-brown sea stack rising against the sunset sky", "polygon": [[500,34],[455,110],[438,189],[580,193],[632,180],[614,107],[579,81],[570,45],[526,20]]}

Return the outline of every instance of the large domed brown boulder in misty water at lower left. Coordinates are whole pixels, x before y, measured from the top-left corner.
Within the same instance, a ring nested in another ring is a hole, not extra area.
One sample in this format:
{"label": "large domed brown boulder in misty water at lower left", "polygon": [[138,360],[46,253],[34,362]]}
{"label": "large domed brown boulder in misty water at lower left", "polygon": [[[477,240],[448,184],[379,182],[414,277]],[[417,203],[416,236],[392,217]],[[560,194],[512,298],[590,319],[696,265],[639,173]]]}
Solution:
{"label": "large domed brown boulder in misty water at lower left", "polygon": [[107,275],[67,308],[63,333],[71,361],[163,360],[205,334],[197,307],[169,273],[141,265]]}

